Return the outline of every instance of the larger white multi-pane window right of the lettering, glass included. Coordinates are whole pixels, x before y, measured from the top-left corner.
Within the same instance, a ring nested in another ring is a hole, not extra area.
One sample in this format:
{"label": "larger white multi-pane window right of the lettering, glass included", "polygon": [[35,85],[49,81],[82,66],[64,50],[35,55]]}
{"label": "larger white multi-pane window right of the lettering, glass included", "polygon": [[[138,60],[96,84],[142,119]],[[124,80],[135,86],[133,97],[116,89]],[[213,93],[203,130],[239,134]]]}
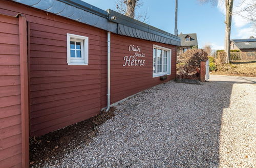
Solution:
{"label": "larger white multi-pane window right of the lettering, glass included", "polygon": [[153,47],[153,77],[169,75],[172,50],[154,45]]}

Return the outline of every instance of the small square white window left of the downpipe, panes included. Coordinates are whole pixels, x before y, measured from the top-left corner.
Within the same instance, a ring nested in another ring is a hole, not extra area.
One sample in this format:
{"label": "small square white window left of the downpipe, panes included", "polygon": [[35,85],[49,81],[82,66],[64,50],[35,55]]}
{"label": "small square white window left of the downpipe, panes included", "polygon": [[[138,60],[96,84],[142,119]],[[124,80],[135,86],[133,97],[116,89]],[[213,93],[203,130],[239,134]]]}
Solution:
{"label": "small square white window left of the downpipe, panes included", "polygon": [[88,37],[67,34],[68,65],[88,65],[88,41]]}

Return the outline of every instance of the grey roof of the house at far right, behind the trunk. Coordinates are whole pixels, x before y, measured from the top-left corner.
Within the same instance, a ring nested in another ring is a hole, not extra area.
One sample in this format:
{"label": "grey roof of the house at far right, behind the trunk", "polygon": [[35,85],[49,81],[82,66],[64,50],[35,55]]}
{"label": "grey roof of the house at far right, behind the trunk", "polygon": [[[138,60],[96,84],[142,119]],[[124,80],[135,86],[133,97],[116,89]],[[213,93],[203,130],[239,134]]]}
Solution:
{"label": "grey roof of the house at far right, behind the trunk", "polygon": [[256,48],[256,38],[253,38],[253,39],[233,39],[231,41],[239,49],[255,49]]}

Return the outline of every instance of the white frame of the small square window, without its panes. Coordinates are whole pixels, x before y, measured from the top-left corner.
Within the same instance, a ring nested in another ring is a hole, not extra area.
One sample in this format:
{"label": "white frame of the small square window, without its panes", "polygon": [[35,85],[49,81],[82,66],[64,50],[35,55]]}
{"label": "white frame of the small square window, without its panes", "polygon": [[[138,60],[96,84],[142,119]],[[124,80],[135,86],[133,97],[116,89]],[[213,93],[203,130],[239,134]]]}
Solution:
{"label": "white frame of the small square window, without its panes", "polygon": [[[70,41],[81,42],[81,58],[71,57]],[[89,37],[67,33],[67,63],[68,63],[68,65],[88,65],[88,60],[89,60],[88,55],[89,55]]]}

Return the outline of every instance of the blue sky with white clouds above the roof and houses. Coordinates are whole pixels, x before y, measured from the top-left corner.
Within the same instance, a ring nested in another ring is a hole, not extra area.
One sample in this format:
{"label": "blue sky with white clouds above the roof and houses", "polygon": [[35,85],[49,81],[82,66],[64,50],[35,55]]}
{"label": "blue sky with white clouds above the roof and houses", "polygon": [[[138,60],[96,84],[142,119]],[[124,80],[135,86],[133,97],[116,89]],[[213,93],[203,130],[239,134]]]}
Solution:
{"label": "blue sky with white clouds above the roof and houses", "polygon": [[[83,1],[103,10],[116,10],[117,0]],[[175,0],[140,1],[143,2],[143,6],[138,11],[147,12],[148,24],[174,34]],[[224,49],[225,16],[223,12],[224,4],[221,0],[217,6],[202,5],[197,0],[178,0],[178,34],[180,32],[183,34],[197,33],[199,47],[210,44],[214,49]],[[247,22],[242,22],[241,18],[235,17],[232,23],[231,39],[255,36],[255,32],[252,32]]]}

